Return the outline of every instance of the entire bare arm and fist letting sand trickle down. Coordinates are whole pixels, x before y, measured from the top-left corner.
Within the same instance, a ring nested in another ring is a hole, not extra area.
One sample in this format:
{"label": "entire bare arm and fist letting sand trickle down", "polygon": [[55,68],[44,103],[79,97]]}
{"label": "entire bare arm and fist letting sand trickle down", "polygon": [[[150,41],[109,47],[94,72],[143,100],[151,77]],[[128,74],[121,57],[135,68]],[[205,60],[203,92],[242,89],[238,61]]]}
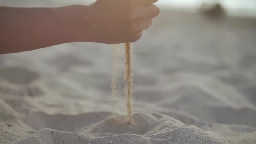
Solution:
{"label": "entire bare arm and fist letting sand trickle down", "polygon": [[159,9],[157,0],[97,0],[55,8],[0,7],[0,54],[69,42],[139,40]]}

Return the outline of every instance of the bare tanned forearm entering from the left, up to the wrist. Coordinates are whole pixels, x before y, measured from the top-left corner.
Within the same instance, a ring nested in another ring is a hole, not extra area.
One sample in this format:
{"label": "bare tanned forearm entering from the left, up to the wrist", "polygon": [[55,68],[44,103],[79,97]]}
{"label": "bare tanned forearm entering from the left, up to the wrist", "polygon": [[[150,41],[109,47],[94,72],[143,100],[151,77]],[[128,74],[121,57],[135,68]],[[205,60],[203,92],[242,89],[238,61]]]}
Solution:
{"label": "bare tanned forearm entering from the left, up to the wrist", "polygon": [[82,37],[85,41],[77,27],[79,24],[76,24],[83,11],[74,11],[76,7],[79,5],[59,8],[0,7],[0,54],[80,41]]}

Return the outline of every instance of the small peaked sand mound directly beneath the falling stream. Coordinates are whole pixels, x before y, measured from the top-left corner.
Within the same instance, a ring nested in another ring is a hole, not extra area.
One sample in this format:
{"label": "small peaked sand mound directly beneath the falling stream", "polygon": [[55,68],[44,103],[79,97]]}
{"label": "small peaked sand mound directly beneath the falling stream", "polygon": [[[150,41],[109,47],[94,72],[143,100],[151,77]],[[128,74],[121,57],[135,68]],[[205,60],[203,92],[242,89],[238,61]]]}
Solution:
{"label": "small peaked sand mound directly beneath the falling stream", "polygon": [[109,117],[107,120],[104,120],[95,128],[88,131],[88,133],[143,135],[165,120],[171,121],[173,124],[181,124],[181,122],[179,122],[178,120],[175,120],[168,116],[160,115],[157,113],[151,115],[141,113],[133,115],[132,123],[128,123],[127,117],[125,116]]}

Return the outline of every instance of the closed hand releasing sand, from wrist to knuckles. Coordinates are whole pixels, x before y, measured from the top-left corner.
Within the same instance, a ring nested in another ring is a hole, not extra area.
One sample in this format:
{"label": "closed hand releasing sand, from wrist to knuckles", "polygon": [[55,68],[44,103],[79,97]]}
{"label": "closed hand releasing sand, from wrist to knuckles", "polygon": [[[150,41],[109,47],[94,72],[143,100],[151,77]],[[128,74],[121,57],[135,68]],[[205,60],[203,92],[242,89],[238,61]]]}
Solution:
{"label": "closed hand releasing sand, from wrist to knuckles", "polygon": [[[159,14],[158,0],[97,0],[88,6],[86,24],[93,42],[135,42]],[[89,14],[88,14],[89,13]]]}

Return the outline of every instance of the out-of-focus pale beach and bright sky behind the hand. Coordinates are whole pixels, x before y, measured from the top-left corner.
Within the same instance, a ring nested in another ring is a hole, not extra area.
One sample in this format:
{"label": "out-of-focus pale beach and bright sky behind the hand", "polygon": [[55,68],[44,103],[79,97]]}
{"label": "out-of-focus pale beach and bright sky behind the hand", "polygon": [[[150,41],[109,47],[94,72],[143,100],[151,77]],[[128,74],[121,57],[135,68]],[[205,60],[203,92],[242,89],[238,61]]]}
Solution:
{"label": "out-of-focus pale beach and bright sky behind the hand", "polygon": [[[0,0],[0,5],[92,2]],[[256,126],[248,119],[256,105],[256,0],[159,0],[156,5],[160,16],[133,44],[135,112],[174,109],[208,122]],[[18,101],[6,100],[18,111],[27,107],[50,114],[111,111],[112,48],[67,43],[0,55],[0,94],[19,96]],[[120,94],[115,99],[115,112],[122,114],[126,111],[123,48],[119,45]],[[245,106],[249,107],[245,111],[235,109]]]}

